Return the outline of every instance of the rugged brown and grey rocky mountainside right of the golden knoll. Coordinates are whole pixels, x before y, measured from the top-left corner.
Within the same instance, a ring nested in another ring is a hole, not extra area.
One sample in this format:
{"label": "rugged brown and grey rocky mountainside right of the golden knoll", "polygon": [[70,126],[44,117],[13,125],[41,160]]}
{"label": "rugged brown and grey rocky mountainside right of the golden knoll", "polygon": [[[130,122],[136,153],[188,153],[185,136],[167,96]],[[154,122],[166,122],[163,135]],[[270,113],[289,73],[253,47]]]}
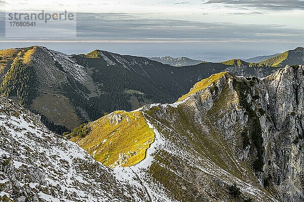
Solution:
{"label": "rugged brown and grey rocky mountainside right of the golden knoll", "polygon": [[[303,66],[264,78],[226,73],[183,102],[143,108],[167,139],[150,172],[181,201],[234,200],[231,184],[244,201],[304,200],[303,76]],[[166,172],[157,176],[159,170]],[[176,193],[164,175],[198,188]]]}

